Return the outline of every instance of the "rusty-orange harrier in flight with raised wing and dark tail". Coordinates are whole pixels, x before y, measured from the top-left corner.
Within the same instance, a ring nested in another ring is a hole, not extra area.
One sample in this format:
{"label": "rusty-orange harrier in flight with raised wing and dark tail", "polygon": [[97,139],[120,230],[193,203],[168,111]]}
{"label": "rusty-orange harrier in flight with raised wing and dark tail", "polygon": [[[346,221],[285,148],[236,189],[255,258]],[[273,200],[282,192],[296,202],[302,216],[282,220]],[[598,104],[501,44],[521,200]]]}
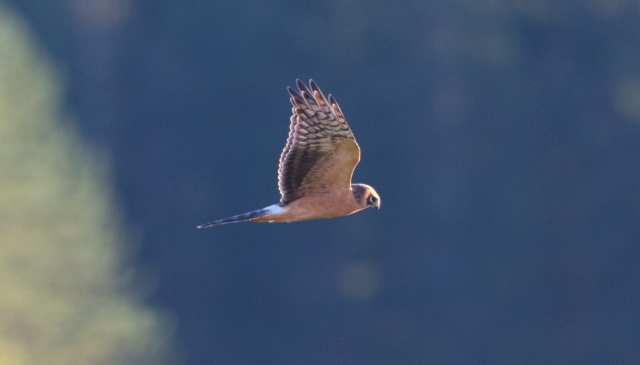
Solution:
{"label": "rusty-orange harrier in flight with raised wing and dark tail", "polygon": [[369,185],[352,184],[360,147],[336,102],[318,85],[297,80],[288,88],[293,115],[289,138],[280,155],[281,199],[263,209],[203,224],[208,228],[237,222],[298,222],[340,217],[362,209],[380,209],[380,196]]}

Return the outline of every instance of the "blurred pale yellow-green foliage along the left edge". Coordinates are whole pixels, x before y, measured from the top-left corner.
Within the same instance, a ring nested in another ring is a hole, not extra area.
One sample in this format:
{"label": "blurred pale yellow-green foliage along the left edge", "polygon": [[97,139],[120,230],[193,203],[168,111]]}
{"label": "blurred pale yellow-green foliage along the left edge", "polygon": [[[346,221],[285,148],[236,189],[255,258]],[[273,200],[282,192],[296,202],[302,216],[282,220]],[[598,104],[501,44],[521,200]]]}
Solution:
{"label": "blurred pale yellow-green foliage along the left edge", "polygon": [[107,174],[61,112],[60,80],[0,5],[0,365],[161,363]]}

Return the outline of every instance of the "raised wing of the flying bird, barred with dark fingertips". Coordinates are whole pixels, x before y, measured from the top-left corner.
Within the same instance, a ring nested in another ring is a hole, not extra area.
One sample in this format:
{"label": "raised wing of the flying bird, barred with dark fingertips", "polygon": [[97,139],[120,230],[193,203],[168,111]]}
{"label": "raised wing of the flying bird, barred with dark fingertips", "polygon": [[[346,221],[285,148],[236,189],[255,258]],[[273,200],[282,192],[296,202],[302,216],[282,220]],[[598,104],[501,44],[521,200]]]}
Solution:
{"label": "raised wing of the flying bird, barred with dark fingertips", "polygon": [[288,88],[293,115],[278,169],[283,204],[350,188],[360,161],[360,147],[333,96],[327,101],[313,80],[311,90],[300,80],[297,84],[299,91]]}

